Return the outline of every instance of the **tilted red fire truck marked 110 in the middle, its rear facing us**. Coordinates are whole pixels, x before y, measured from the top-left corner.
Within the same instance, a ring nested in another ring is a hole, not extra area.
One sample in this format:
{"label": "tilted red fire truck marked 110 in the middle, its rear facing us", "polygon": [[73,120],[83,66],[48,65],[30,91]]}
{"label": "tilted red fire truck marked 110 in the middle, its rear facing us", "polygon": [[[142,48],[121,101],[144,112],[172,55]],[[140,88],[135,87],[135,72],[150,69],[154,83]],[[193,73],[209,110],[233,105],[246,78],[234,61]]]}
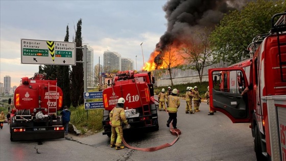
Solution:
{"label": "tilted red fire truck marked 110 in the middle, its rear facing us", "polygon": [[118,72],[112,82],[108,82],[111,87],[103,90],[103,134],[111,136],[109,112],[121,97],[126,100],[125,116],[130,129],[159,129],[153,83],[154,77],[151,77],[151,72],[134,71]]}

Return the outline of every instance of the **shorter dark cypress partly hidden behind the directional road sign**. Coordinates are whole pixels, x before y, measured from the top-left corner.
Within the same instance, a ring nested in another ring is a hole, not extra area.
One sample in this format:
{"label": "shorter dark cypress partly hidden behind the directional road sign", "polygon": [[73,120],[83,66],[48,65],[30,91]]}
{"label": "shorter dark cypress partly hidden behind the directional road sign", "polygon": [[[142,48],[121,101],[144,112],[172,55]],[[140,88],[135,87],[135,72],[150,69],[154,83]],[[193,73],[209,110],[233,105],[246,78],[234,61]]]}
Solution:
{"label": "shorter dark cypress partly hidden behind the directional road sign", "polygon": [[[64,41],[68,42],[69,31],[68,25],[66,26],[66,34]],[[69,65],[58,65],[58,86],[63,91],[63,106],[70,106],[70,80],[69,80]]]}

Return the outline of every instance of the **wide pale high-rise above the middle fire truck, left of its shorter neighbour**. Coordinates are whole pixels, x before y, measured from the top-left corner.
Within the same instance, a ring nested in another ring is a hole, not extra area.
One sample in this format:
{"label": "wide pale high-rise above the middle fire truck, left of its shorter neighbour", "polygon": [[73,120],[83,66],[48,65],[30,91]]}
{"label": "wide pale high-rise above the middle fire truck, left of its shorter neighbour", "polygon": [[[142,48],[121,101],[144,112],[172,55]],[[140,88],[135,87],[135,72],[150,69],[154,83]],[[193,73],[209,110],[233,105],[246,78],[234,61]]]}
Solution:
{"label": "wide pale high-rise above the middle fire truck, left of its shorter neighbour", "polygon": [[117,52],[103,52],[103,72],[121,70],[121,55]]}

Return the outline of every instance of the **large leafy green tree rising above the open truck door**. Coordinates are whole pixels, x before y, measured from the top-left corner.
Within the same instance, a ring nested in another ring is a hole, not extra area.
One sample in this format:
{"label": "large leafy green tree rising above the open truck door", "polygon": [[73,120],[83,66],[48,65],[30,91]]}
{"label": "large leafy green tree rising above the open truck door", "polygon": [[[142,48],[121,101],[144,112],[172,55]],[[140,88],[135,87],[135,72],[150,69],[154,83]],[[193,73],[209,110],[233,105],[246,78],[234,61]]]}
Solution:
{"label": "large leafy green tree rising above the open truck door", "polygon": [[225,15],[210,35],[216,53],[214,58],[231,63],[249,58],[248,45],[255,36],[269,33],[271,17],[286,8],[286,3],[282,2],[251,1],[241,11],[234,10]]}

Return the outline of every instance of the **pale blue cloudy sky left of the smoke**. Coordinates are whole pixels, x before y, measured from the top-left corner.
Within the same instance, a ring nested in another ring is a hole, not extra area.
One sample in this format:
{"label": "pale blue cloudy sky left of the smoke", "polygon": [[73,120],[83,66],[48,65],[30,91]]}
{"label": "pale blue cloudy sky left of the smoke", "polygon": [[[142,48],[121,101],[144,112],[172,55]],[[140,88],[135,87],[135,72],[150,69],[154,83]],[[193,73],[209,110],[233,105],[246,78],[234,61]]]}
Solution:
{"label": "pale blue cloudy sky left of the smoke", "polygon": [[[32,77],[38,64],[21,64],[21,39],[69,42],[82,18],[83,43],[93,48],[93,65],[103,64],[103,52],[134,60],[140,70],[166,31],[162,7],[167,1],[3,1],[0,0],[0,82],[11,77],[11,87]],[[140,44],[142,44],[142,48]],[[142,54],[143,50],[143,54]]]}

